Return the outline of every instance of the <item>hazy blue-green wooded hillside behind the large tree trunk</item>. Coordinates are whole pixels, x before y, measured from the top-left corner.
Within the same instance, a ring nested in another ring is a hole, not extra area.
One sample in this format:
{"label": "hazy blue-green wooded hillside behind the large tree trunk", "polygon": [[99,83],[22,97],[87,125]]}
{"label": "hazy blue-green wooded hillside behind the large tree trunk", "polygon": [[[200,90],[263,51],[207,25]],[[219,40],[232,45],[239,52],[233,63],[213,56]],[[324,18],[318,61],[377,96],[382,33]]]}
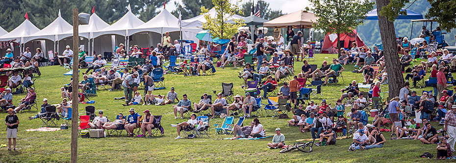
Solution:
{"label": "hazy blue-green wooded hillside behind the large tree trunk", "polygon": [[[405,5],[407,7],[408,5]],[[424,16],[428,12],[428,9],[431,8],[431,5],[427,0],[416,0],[408,9],[417,13],[420,13]],[[423,22],[415,22],[413,23],[413,33],[412,38],[416,38],[420,35],[421,27],[426,25]],[[412,27],[411,20],[396,20],[394,21],[394,26],[396,28],[396,37],[410,37],[410,31]],[[438,26],[437,22],[432,23],[432,30],[434,30]],[[431,23],[428,22],[427,24],[428,30],[432,31]],[[364,20],[364,24],[358,26],[357,28],[358,34],[361,39],[364,41],[365,44],[368,46],[373,46],[374,44],[381,43],[380,38],[380,29],[379,23],[377,20]],[[454,46],[455,45],[455,35],[456,29],[453,29],[451,33],[447,32],[445,35],[445,41],[447,41],[448,45]],[[410,38],[409,38],[410,40]]]}

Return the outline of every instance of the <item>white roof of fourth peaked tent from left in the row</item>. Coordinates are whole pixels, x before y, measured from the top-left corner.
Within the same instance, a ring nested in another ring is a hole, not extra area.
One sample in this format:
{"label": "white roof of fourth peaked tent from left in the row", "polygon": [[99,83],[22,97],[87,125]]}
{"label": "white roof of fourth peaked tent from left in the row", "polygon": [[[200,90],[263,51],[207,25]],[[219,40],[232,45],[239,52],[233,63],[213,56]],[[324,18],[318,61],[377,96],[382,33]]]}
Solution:
{"label": "white roof of fourth peaked tent from left in the row", "polygon": [[121,35],[128,36],[128,30],[141,26],[144,21],[137,18],[131,11],[128,11],[121,19],[117,20],[112,25],[101,29],[100,31],[93,32],[93,37],[96,38],[101,35]]}

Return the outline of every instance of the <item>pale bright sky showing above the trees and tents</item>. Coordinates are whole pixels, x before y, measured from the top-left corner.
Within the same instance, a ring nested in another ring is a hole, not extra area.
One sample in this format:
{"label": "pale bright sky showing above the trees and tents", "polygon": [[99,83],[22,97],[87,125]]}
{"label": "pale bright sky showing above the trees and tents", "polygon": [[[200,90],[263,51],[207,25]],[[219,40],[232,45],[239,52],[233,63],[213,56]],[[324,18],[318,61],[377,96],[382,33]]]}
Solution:
{"label": "pale bright sky showing above the trees and tents", "polygon": [[[174,5],[174,2],[177,1],[181,3],[182,0],[170,0],[169,3],[166,5],[166,9],[168,11],[173,11],[176,9],[176,6]],[[231,0],[233,3],[236,2],[236,0]],[[252,0],[242,0],[241,3],[246,3],[247,1],[252,1]],[[257,0],[254,0],[255,4]],[[269,3],[269,7],[273,10],[282,10],[282,13],[292,13],[295,11],[298,11],[300,9],[304,9],[306,6],[310,5],[310,2],[308,0],[264,0]],[[182,3],[181,3],[182,4]]]}

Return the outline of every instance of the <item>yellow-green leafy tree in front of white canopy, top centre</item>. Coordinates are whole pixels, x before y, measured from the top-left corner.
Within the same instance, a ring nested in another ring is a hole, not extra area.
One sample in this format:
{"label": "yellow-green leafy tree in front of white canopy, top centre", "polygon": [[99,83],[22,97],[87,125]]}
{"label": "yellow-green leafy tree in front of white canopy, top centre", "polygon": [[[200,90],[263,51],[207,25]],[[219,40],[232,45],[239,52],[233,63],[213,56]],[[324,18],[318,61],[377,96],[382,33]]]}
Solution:
{"label": "yellow-green leafy tree in front of white canopy, top centre", "polygon": [[207,21],[203,24],[203,28],[209,30],[213,38],[230,39],[238,32],[237,29],[239,27],[245,26],[244,20],[241,19],[233,19],[234,24],[226,23],[228,18],[235,13],[242,13],[237,5],[231,4],[229,0],[212,0],[212,4],[217,13],[215,18],[211,18],[207,14],[209,10],[204,6],[201,7],[201,13],[203,13],[204,19]]}

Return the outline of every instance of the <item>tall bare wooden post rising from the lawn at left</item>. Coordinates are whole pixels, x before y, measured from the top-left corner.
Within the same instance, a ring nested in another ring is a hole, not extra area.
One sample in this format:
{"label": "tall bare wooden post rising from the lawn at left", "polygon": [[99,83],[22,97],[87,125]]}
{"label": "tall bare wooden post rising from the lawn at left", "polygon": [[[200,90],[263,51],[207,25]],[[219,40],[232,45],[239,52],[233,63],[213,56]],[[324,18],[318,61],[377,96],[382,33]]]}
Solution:
{"label": "tall bare wooden post rising from the lawn at left", "polygon": [[[79,33],[78,33],[78,25],[79,25],[79,18],[77,16],[78,10],[77,8],[73,8],[73,82],[72,85],[78,85],[78,68],[79,68],[79,58],[77,55],[78,48],[79,48]],[[72,115],[71,115],[71,163],[77,163],[77,104],[78,101],[78,92],[79,89],[77,86],[73,86],[73,94],[72,94]]]}

